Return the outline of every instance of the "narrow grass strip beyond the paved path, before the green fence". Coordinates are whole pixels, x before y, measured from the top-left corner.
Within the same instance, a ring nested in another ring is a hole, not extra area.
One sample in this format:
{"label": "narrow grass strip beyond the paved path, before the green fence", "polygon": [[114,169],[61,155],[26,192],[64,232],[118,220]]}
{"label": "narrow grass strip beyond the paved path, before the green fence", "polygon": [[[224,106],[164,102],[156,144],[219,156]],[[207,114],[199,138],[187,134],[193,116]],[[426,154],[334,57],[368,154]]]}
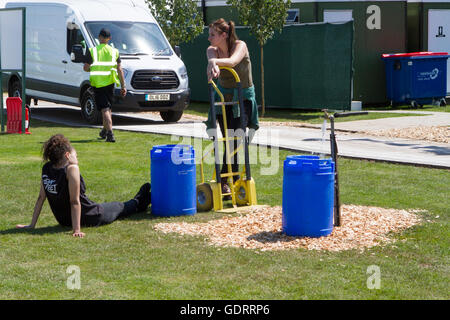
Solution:
{"label": "narrow grass strip beyond the paved path, before the green fence", "polygon": [[[389,112],[390,110],[396,110],[389,108],[386,112],[369,112],[367,115],[358,115],[358,116],[350,116],[345,118],[336,118],[335,122],[344,122],[344,121],[355,121],[355,120],[373,120],[373,119],[382,119],[382,118],[396,118],[396,117],[408,117],[408,116],[422,116],[423,114],[415,113],[414,110],[425,110],[425,111],[444,111],[445,108],[449,107],[441,107],[438,109],[429,108],[432,106],[424,106],[421,109],[405,109],[410,110],[409,113],[394,113]],[[435,107],[438,108],[438,107]],[[400,108],[402,109],[402,108]],[[209,103],[205,102],[191,102],[189,107],[184,111],[186,114],[196,115],[196,116],[208,116]],[[373,109],[380,111],[381,109]],[[384,110],[384,109],[383,109]],[[370,111],[370,110],[363,110]],[[330,112],[331,114],[333,112]],[[301,110],[301,109],[266,109],[266,113],[264,117],[260,117],[259,121],[276,121],[276,122],[306,122],[311,124],[319,124],[323,122],[322,111],[312,111],[312,110]]]}

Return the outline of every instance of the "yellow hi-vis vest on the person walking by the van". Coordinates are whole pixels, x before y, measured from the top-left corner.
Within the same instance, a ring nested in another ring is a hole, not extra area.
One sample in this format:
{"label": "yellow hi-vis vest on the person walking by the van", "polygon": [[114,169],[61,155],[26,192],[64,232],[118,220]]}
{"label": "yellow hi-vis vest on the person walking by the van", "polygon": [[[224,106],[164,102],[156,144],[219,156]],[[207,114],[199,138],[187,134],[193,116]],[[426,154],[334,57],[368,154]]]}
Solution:
{"label": "yellow hi-vis vest on the person walking by the van", "polygon": [[117,74],[119,50],[102,43],[95,48],[90,48],[89,51],[93,60],[89,77],[91,86],[102,88],[113,83],[120,86],[119,75]]}

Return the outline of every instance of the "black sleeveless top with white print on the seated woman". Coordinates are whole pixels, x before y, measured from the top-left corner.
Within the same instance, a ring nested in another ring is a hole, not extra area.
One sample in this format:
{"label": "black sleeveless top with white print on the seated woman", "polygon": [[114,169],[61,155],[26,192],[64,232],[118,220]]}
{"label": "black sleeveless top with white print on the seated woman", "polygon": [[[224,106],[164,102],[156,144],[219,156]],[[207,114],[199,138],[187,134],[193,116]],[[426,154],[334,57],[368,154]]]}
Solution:
{"label": "black sleeveless top with white print on the seated woman", "polygon": [[[42,167],[42,183],[47,195],[50,208],[58,223],[62,226],[72,226],[69,182],[67,181],[67,166],[60,169],[53,168],[50,162]],[[101,205],[91,201],[85,194],[86,185],[80,175],[80,204],[81,225],[97,221],[103,214]]]}

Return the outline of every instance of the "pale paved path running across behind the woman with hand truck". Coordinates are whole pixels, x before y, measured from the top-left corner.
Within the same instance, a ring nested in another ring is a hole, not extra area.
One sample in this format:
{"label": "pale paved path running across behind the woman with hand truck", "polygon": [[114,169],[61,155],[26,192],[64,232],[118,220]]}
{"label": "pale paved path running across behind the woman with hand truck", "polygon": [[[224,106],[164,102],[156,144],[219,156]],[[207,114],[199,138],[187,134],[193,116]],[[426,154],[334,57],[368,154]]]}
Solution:
{"label": "pale paved path running across behind the woman with hand truck", "polygon": [[[402,111],[400,111],[402,112]],[[337,130],[389,129],[417,125],[450,125],[450,113],[426,112],[429,116],[397,117],[336,123]],[[80,118],[78,108],[40,102],[32,111],[32,118],[88,126]],[[151,113],[114,113],[115,130],[159,133],[185,137],[207,138],[205,125],[200,120],[182,118],[178,123],[164,123],[159,115]],[[320,128],[320,126],[318,126]],[[329,134],[318,128],[269,127],[262,123],[252,143],[307,153],[330,153]],[[32,131],[32,129],[31,129]],[[336,132],[339,155],[402,164],[415,164],[450,169],[450,146],[420,140],[369,136],[361,133]],[[120,140],[118,140],[120,143]]]}

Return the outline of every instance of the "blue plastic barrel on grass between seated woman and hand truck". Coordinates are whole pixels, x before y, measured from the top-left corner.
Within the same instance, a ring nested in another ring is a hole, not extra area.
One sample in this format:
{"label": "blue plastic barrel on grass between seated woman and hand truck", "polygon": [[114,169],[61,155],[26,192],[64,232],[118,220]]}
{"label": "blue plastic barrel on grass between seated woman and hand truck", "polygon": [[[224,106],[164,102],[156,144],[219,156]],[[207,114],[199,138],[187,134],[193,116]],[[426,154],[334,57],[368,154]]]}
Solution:
{"label": "blue plastic barrel on grass between seated woman and hand truck", "polygon": [[190,145],[154,146],[150,151],[152,214],[192,215],[197,212],[195,152]]}

